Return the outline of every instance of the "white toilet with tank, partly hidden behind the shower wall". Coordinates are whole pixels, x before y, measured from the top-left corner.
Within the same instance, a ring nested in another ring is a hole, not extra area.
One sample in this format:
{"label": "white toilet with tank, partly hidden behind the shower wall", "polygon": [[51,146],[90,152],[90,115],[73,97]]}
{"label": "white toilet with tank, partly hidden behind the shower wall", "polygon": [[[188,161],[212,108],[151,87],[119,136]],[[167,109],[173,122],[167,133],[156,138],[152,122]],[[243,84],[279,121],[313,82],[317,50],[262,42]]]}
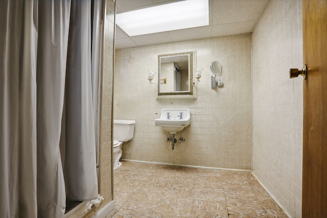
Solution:
{"label": "white toilet with tank, partly hidden behind the shower wall", "polygon": [[119,159],[122,157],[122,145],[134,136],[135,120],[114,119],[113,120],[113,170],[122,165]]}

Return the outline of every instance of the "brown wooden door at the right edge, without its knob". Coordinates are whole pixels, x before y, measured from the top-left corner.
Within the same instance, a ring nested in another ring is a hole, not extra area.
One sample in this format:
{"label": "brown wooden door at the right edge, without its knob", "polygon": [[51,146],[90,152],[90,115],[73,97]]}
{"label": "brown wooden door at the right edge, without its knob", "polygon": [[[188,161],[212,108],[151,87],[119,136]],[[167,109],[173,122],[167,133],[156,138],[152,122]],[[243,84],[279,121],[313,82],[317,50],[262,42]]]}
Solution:
{"label": "brown wooden door at the right edge, without its knob", "polygon": [[327,217],[327,1],[302,0],[302,217]]}

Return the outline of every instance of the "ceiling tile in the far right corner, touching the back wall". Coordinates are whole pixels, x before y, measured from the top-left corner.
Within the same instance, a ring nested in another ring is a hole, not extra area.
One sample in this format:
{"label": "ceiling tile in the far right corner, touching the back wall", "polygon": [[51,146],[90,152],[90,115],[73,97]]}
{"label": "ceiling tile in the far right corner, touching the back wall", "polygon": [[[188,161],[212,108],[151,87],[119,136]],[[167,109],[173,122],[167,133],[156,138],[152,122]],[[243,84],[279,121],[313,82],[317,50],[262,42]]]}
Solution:
{"label": "ceiling tile in the far right corner, touching the back wall", "polygon": [[236,22],[236,23],[225,23],[222,25],[212,26],[212,37],[218,36],[230,36],[244,33],[251,33],[254,25],[254,21]]}

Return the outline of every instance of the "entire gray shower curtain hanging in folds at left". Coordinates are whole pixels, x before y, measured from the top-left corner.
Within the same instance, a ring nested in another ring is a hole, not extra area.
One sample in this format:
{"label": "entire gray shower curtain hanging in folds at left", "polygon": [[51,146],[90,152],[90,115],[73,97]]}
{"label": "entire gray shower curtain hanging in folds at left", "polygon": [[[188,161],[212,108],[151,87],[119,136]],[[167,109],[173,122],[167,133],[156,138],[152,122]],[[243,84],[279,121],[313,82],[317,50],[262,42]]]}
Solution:
{"label": "entire gray shower curtain hanging in folds at left", "polygon": [[66,190],[97,198],[90,5],[0,1],[2,217],[62,217]]}

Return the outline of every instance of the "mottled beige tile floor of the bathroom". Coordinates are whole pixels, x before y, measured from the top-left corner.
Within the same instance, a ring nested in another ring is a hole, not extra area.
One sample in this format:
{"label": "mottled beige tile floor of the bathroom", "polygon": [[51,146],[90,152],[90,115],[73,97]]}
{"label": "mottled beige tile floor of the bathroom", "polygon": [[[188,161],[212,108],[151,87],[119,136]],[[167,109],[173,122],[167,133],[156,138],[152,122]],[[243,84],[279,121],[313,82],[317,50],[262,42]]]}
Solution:
{"label": "mottled beige tile floor of the bathroom", "polygon": [[122,163],[108,217],[287,217],[251,172]]}

